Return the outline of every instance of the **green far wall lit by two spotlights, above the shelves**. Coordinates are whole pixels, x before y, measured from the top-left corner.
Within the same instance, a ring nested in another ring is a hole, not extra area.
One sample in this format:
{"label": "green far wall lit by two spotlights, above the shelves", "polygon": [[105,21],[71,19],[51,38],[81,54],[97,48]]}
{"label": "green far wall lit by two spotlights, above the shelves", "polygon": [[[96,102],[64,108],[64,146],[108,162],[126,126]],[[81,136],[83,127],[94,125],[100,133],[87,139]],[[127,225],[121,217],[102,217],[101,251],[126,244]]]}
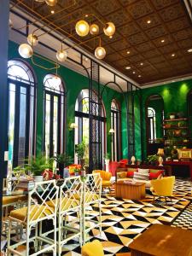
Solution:
{"label": "green far wall lit by two spotlights, above the shelves", "polygon": [[[142,111],[143,111],[143,156],[147,156],[147,138],[146,138],[146,121],[145,121],[145,103],[149,96],[159,95],[164,102],[165,118],[169,117],[171,112],[183,112],[184,116],[188,114],[187,96],[192,90],[192,79],[183,80],[171,84],[163,84],[160,86],[150,87],[142,90]],[[191,123],[190,123],[191,124]],[[190,126],[191,130],[192,127]]]}

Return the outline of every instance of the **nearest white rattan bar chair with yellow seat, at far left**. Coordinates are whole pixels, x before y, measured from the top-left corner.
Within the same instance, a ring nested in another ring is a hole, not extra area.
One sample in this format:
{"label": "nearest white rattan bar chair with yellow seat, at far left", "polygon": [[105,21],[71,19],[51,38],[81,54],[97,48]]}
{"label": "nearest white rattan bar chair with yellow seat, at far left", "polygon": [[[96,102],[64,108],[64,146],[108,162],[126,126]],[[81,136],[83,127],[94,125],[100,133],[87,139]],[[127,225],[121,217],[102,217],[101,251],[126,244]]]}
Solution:
{"label": "nearest white rattan bar chair with yellow seat, at far left", "polygon": [[[23,255],[17,248],[20,245],[26,245],[26,256],[38,255],[40,253],[52,251],[56,255],[56,230],[52,230],[53,238],[49,236],[39,236],[38,224],[44,220],[52,220],[56,227],[56,211],[58,203],[59,188],[55,184],[55,180],[35,183],[34,188],[28,194],[28,207],[22,207],[10,212],[9,216],[9,236],[8,236],[8,255],[10,253]],[[47,202],[51,201],[51,206]],[[17,222],[26,228],[26,238],[18,242],[11,243],[11,225]],[[32,232],[34,229],[34,232]],[[41,234],[42,235],[42,234]],[[34,242],[35,253],[29,254],[29,243]],[[38,247],[45,243],[46,246]]]}

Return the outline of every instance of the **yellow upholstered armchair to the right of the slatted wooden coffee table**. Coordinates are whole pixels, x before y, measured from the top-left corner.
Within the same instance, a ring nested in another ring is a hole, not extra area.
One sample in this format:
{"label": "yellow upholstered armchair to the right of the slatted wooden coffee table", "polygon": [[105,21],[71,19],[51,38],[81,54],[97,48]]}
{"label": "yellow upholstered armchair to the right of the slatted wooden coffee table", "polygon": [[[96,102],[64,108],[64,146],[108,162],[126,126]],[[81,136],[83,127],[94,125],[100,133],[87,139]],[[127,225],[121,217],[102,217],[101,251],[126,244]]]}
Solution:
{"label": "yellow upholstered armchair to the right of the slatted wooden coffee table", "polygon": [[162,177],[160,179],[151,180],[152,187],[150,190],[154,195],[154,199],[155,199],[155,196],[158,196],[159,198],[161,196],[165,198],[167,196],[170,196],[172,201],[172,191],[174,188],[174,183],[175,183],[175,176]]}

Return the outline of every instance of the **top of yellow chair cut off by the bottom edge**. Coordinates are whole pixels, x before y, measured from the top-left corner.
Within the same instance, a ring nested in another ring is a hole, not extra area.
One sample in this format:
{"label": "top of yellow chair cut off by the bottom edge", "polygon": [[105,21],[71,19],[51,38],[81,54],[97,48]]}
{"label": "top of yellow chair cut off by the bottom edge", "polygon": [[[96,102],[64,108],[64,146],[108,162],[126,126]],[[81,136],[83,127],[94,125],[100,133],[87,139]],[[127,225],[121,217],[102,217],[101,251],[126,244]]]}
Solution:
{"label": "top of yellow chair cut off by the bottom edge", "polygon": [[98,240],[90,241],[81,248],[82,256],[104,256],[102,242]]}

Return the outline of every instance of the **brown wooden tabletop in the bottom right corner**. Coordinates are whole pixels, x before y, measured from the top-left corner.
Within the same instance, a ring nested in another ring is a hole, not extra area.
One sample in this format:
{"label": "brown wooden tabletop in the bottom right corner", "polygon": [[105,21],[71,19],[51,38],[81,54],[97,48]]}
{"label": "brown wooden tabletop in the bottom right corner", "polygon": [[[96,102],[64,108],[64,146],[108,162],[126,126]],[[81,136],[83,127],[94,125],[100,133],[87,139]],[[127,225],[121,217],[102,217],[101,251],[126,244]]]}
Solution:
{"label": "brown wooden tabletop in the bottom right corner", "polygon": [[192,230],[152,224],[129,248],[131,256],[187,256],[192,250]]}

